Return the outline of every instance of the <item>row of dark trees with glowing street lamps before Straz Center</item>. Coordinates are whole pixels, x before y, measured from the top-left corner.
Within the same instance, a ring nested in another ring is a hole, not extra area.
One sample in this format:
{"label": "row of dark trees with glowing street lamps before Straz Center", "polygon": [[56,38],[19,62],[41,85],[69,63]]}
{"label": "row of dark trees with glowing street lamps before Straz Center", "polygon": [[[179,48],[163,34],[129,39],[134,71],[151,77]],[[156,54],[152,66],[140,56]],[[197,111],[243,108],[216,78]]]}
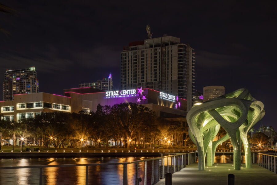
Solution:
{"label": "row of dark trees with glowing street lamps before Straz Center", "polygon": [[52,112],[21,121],[1,120],[0,137],[1,142],[12,138],[14,145],[17,138],[24,137],[41,147],[75,148],[83,139],[85,146],[155,149],[162,142],[166,146],[183,146],[187,130],[179,121],[157,118],[154,111],[143,105],[122,103],[98,105],[90,114]]}

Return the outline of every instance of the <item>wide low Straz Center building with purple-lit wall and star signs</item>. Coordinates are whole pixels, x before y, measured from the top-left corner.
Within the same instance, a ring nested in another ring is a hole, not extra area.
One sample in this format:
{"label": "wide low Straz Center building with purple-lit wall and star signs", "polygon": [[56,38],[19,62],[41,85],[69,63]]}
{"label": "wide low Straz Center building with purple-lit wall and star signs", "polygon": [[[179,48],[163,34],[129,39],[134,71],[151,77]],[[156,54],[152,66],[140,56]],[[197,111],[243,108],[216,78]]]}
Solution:
{"label": "wide low Straz Center building with purple-lit wall and star signs", "polygon": [[45,92],[18,94],[14,95],[13,101],[1,101],[0,107],[3,119],[20,121],[42,112],[89,113],[96,111],[98,104],[113,106],[127,102],[141,104],[153,110],[158,117],[171,118],[187,126],[187,100],[149,88],[108,92],[91,87],[71,88],[64,90],[64,96]]}

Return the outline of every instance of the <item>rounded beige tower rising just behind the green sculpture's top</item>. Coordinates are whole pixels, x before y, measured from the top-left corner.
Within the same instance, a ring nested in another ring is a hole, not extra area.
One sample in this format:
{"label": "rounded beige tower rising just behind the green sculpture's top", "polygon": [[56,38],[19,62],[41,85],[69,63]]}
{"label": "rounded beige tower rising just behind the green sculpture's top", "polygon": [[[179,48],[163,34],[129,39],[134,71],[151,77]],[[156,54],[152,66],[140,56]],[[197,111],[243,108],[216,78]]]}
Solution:
{"label": "rounded beige tower rising just behind the green sculpture's top", "polygon": [[225,94],[224,86],[206,86],[203,88],[203,102]]}

